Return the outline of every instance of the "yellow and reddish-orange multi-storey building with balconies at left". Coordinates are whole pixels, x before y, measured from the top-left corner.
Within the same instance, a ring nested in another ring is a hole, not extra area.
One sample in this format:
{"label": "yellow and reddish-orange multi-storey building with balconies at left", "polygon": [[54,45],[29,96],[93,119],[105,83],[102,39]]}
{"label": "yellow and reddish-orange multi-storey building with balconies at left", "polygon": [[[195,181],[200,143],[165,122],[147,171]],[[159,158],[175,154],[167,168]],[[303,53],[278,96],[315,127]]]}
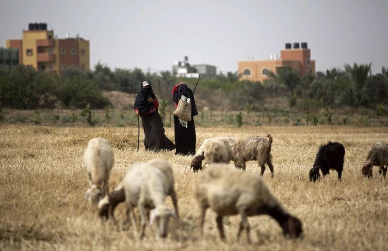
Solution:
{"label": "yellow and reddish-orange multi-storey building with balconies at left", "polygon": [[89,41],[83,38],[58,39],[46,23],[30,23],[23,39],[9,39],[6,47],[19,50],[19,63],[36,70],[61,74],[68,68],[90,69]]}

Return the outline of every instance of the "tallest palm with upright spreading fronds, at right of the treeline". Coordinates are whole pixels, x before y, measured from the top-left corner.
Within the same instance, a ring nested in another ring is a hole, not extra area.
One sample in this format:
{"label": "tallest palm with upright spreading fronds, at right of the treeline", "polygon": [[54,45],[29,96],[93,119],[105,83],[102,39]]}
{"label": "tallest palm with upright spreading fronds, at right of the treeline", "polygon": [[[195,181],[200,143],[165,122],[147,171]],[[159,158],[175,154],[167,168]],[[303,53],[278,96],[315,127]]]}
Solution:
{"label": "tallest palm with upright spreading fronds, at right of the treeline", "polygon": [[371,72],[370,64],[353,64],[353,67],[349,64],[345,64],[345,71],[348,74],[352,82],[352,87],[354,90],[356,106],[360,105],[362,101],[362,94],[368,79],[368,74]]}

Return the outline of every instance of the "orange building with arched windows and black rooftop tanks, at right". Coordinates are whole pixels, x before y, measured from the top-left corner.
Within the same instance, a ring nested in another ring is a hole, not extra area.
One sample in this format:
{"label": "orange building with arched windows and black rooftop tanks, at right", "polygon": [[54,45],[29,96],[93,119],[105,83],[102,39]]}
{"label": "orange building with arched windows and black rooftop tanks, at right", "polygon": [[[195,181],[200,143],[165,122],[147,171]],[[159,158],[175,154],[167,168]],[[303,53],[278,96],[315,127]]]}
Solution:
{"label": "orange building with arched windows and black rooftop tanks, at right", "polygon": [[310,49],[307,48],[307,43],[301,43],[301,48],[299,48],[299,43],[293,43],[293,48],[290,43],[286,43],[286,48],[280,51],[280,59],[277,55],[271,55],[270,60],[240,61],[239,73],[242,74],[240,80],[262,82],[268,79],[266,75],[268,71],[278,74],[279,68],[283,66],[295,68],[302,76],[315,73],[315,61],[310,59]]}

